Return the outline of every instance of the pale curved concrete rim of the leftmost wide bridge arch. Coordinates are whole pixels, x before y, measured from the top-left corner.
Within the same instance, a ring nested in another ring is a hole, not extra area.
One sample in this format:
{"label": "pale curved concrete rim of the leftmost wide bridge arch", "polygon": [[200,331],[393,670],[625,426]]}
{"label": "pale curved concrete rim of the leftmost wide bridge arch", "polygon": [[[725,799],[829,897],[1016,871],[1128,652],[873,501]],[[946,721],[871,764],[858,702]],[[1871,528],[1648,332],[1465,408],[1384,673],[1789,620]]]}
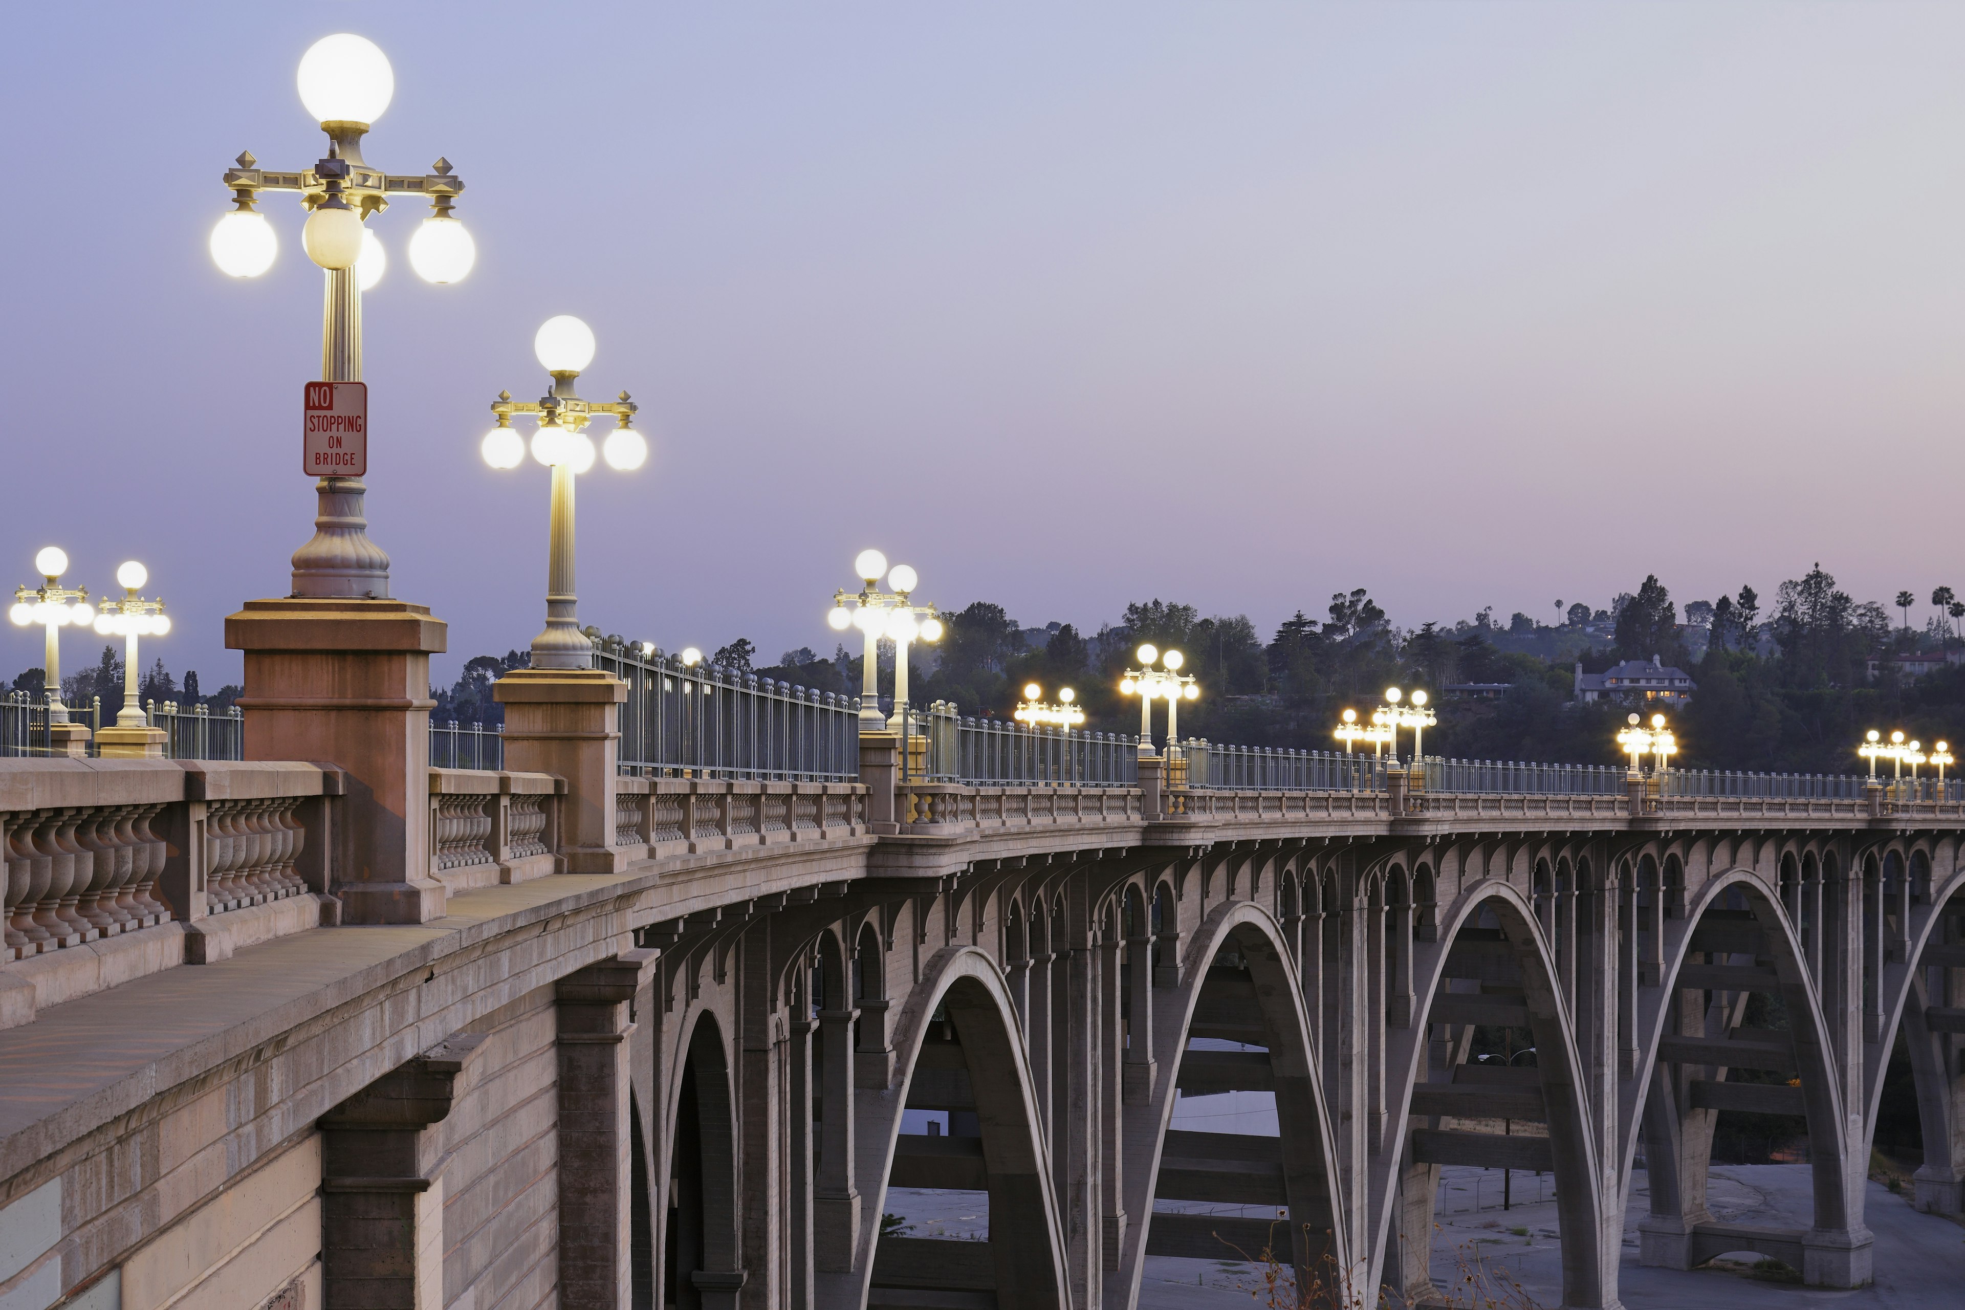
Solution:
{"label": "pale curved concrete rim of the leftmost wide bridge arch", "polygon": [[[929,1019],[941,1010],[969,1064],[982,1165],[988,1174],[990,1255],[998,1306],[1063,1310],[1065,1235],[1043,1151],[1036,1088],[1018,1027],[1016,1008],[996,962],[975,947],[945,947],[922,966],[894,1031],[902,1076],[882,1092],[855,1100],[861,1114],[859,1176],[867,1180],[867,1212],[882,1214],[886,1178],[894,1167],[902,1110]],[[851,1281],[867,1304],[878,1249],[878,1224],[863,1224]]]}

